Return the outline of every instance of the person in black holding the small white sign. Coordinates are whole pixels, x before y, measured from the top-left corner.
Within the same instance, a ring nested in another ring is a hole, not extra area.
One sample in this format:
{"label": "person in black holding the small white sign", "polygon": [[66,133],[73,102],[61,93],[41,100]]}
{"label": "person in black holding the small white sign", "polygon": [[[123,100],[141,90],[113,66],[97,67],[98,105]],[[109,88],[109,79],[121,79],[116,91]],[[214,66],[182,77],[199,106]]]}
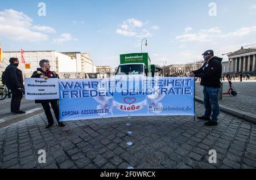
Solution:
{"label": "person in black holding the small white sign", "polygon": [[[53,74],[52,71],[50,71],[51,66],[49,65],[49,61],[46,59],[43,59],[39,62],[40,68],[37,68],[35,72],[33,72],[31,78],[56,78],[56,76]],[[60,127],[64,127],[65,124],[62,122],[59,122],[59,105],[58,100],[35,100],[35,103],[41,103],[44,109],[44,113],[46,113],[46,118],[48,120],[48,125],[46,128],[49,128],[53,125],[53,117],[51,113],[51,108],[49,103],[51,103],[53,112],[55,114],[55,117],[57,119],[57,122]]]}

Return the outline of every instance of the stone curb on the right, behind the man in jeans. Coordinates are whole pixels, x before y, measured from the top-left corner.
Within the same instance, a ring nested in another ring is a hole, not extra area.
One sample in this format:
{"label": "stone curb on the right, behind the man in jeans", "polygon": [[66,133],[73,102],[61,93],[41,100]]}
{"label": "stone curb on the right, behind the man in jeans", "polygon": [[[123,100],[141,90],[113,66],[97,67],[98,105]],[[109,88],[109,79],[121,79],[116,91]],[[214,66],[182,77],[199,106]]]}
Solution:
{"label": "stone curb on the right, behind the man in jeans", "polygon": [[[196,101],[200,102],[201,104],[204,104],[204,100],[201,97],[196,96]],[[244,119],[245,121],[256,124],[256,116],[253,113],[243,112],[241,110],[229,108],[229,107],[221,105],[221,104],[220,104],[220,110],[221,110],[221,112],[224,112],[224,113],[227,113],[230,115],[234,115],[235,117],[238,117],[240,119]]]}

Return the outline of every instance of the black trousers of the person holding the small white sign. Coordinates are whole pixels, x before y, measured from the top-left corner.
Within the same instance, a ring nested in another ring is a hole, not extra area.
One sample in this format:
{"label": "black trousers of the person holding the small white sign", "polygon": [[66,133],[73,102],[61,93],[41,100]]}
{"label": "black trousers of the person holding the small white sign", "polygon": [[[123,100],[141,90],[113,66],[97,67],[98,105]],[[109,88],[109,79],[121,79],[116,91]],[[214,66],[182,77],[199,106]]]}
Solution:
{"label": "black trousers of the person holding the small white sign", "polygon": [[52,117],[52,113],[51,113],[51,107],[50,107],[50,104],[51,103],[51,106],[52,106],[52,110],[55,114],[55,117],[57,119],[57,122],[59,123],[59,119],[60,119],[60,116],[59,116],[59,105],[58,105],[58,101],[51,101],[51,102],[42,102],[42,106],[43,106],[43,109],[44,109],[44,113],[46,113],[46,118],[48,120],[48,123],[51,124],[53,123],[53,117]]}

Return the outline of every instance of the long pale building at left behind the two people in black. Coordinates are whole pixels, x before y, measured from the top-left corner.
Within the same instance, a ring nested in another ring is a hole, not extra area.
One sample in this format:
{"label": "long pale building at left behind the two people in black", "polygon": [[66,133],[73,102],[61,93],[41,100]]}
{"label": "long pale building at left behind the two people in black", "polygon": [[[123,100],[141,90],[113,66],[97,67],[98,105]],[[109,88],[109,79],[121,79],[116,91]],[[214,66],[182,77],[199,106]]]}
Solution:
{"label": "long pale building at left behind the two people in black", "polygon": [[42,59],[48,59],[51,70],[56,72],[96,72],[95,66],[93,66],[93,59],[89,53],[60,53],[55,50],[43,50],[24,52],[25,63],[21,63],[20,51],[3,52],[3,61],[0,62],[0,74],[10,64],[9,59],[11,57],[19,59],[19,68],[23,71],[24,76],[31,76],[32,72],[39,67],[39,61]]}

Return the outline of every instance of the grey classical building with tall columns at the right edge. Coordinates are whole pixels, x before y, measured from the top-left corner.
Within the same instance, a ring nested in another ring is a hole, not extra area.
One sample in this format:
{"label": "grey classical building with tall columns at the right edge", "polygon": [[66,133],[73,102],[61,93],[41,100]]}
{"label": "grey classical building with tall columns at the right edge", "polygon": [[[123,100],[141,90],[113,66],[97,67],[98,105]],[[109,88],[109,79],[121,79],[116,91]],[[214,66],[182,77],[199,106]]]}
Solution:
{"label": "grey classical building with tall columns at the right edge", "polygon": [[243,48],[228,54],[228,72],[255,72],[255,48]]}

